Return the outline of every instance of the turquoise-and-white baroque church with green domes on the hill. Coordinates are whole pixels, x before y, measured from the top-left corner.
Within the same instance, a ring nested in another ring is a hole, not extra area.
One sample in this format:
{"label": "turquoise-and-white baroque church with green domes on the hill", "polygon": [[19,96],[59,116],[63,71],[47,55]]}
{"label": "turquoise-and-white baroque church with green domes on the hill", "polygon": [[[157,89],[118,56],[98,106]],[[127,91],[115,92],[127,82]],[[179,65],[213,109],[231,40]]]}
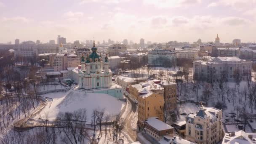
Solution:
{"label": "turquoise-and-white baroque church with green domes on the hill", "polygon": [[[108,88],[112,84],[112,72],[109,69],[109,62],[107,56],[104,61],[101,55],[97,53],[95,41],[93,40],[93,47],[91,54],[81,57],[81,69],[79,70],[79,88],[86,90],[95,88]],[[104,69],[102,69],[102,63]]]}

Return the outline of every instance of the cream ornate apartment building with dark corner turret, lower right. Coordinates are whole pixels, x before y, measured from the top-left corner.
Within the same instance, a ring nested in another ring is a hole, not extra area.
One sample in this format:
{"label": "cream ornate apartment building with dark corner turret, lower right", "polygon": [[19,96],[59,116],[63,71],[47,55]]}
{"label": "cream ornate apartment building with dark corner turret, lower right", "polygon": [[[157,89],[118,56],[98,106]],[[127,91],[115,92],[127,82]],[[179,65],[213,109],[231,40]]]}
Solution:
{"label": "cream ornate apartment building with dark corner turret, lower right", "polygon": [[186,139],[197,144],[218,144],[222,141],[222,110],[201,107],[186,117]]}

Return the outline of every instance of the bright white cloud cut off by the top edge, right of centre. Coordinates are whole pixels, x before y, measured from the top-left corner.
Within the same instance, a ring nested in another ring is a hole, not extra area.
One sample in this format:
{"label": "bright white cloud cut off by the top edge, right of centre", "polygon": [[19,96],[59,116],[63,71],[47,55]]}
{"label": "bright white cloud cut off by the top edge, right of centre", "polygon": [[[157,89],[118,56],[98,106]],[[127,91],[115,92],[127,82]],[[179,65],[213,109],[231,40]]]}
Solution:
{"label": "bright white cloud cut off by the top edge, right of centre", "polygon": [[201,0],[144,0],[143,3],[160,8],[170,8],[199,4]]}

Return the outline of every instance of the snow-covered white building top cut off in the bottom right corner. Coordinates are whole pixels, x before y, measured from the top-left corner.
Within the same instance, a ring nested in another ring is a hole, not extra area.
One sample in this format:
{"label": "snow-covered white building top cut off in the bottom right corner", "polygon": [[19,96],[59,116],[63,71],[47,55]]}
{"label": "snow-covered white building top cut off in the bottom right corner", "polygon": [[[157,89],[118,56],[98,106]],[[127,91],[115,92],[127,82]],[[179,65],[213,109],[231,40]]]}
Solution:
{"label": "snow-covered white building top cut off in the bottom right corner", "polygon": [[256,144],[256,133],[236,131],[225,133],[222,144]]}

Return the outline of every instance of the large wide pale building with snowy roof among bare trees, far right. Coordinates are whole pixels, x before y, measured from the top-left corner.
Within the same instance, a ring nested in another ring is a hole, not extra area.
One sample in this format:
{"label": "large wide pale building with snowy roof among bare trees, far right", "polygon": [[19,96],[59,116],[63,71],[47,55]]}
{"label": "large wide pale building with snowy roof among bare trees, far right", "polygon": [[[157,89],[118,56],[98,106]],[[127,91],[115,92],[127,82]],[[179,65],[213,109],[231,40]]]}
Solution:
{"label": "large wide pale building with snowy roof among bare trees, far right", "polygon": [[251,75],[252,61],[246,61],[237,57],[216,57],[208,61],[194,61],[193,72],[195,79],[227,78],[234,81],[236,76],[246,80]]}

